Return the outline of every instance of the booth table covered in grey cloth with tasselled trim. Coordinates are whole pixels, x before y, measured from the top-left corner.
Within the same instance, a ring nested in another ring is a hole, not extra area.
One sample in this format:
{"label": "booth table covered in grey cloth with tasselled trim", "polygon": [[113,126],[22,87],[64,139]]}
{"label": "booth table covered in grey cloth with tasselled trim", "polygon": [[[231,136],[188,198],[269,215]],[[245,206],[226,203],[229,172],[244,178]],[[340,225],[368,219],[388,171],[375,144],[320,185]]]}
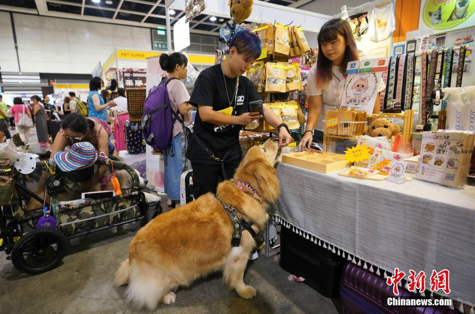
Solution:
{"label": "booth table covered in grey cloth with tasselled trim", "polygon": [[475,187],[363,180],[284,163],[277,173],[280,198],[269,214],[282,224],[362,264],[398,268],[406,280],[409,270],[424,271],[426,291],[432,271],[447,269],[447,297],[475,305]]}

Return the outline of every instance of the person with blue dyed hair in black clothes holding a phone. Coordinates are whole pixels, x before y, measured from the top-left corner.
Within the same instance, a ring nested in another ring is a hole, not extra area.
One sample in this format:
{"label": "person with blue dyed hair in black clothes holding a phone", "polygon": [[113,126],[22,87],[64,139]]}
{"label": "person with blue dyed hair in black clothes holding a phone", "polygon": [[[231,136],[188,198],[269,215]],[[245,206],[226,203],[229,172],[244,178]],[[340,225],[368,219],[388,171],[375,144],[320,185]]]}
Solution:
{"label": "person with blue dyed hair in black clothes holding a phone", "polygon": [[[242,76],[260,53],[257,35],[238,32],[229,42],[226,60],[204,69],[196,80],[189,103],[197,107],[198,112],[194,135],[186,151],[186,158],[193,167],[195,199],[207,192],[216,193],[219,182],[233,177],[243,154],[239,132],[262,117],[259,112],[249,112],[249,102],[261,97],[252,82]],[[218,112],[229,107],[232,107],[231,115]],[[292,140],[289,130],[267,106],[264,106],[264,119],[279,130],[279,146],[287,146]]]}

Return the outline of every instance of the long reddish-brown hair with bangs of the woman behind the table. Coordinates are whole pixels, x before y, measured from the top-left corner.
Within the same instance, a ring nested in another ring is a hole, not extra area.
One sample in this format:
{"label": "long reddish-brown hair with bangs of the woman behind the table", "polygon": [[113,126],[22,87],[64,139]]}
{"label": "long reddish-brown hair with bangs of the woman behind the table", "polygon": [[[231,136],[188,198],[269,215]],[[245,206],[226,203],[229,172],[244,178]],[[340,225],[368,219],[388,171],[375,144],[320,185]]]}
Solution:
{"label": "long reddish-brown hair with bangs of the woman behind the table", "polygon": [[341,18],[334,18],[327,21],[318,33],[318,57],[317,57],[317,86],[323,88],[332,79],[332,63],[322,52],[322,43],[338,40],[338,35],[343,36],[346,42],[345,56],[340,65],[340,71],[345,75],[348,62],[359,60],[359,52],[354,41],[353,33],[349,23]]}

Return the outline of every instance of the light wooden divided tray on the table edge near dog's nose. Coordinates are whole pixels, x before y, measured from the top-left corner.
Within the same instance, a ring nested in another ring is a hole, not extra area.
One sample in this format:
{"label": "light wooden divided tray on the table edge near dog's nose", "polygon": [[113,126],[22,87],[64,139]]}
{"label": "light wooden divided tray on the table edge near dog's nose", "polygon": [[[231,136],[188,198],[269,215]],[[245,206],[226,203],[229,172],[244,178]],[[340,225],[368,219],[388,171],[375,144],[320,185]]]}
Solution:
{"label": "light wooden divided tray on the table edge near dog's nose", "polygon": [[282,162],[324,174],[351,166],[351,163],[346,161],[344,155],[329,152],[313,153],[305,151],[286,154],[282,155]]}

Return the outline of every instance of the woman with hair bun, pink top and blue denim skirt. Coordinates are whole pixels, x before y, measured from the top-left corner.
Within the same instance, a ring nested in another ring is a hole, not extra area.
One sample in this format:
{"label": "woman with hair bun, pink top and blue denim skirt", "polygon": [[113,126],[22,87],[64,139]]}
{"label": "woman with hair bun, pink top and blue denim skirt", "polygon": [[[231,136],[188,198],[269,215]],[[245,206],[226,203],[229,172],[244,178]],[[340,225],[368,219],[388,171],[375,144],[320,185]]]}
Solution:
{"label": "woman with hair bun, pink top and blue denim skirt", "polygon": [[184,135],[184,131],[182,122],[185,126],[189,125],[192,120],[189,111],[194,107],[188,103],[189,94],[185,84],[181,81],[186,78],[188,59],[180,53],[161,54],[159,62],[161,68],[169,73],[167,79],[171,80],[167,84],[167,89],[170,105],[181,119],[181,121],[176,119],[173,125],[172,146],[162,152],[165,164],[165,194],[171,201],[172,207],[175,207],[176,203],[180,203],[180,175],[183,172],[181,137]]}

